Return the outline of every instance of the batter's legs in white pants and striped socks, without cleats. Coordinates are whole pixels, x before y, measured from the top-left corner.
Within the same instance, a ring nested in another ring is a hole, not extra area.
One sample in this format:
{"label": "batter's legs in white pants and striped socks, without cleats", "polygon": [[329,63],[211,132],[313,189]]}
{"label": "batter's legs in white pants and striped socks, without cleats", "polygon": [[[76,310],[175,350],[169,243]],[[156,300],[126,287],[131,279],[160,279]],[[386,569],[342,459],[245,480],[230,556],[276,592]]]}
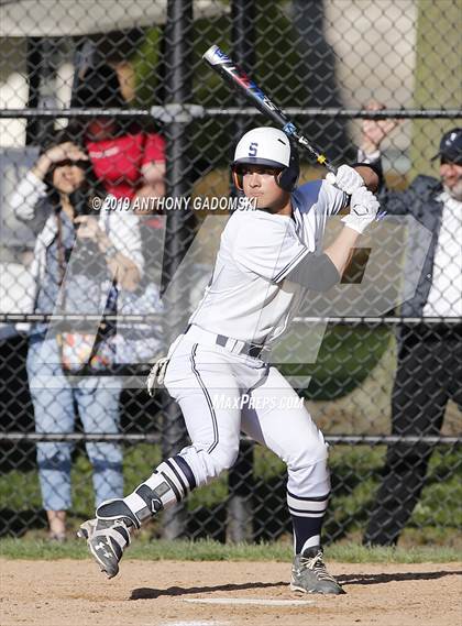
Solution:
{"label": "batter's legs in white pants and striped socks, without cleats", "polygon": [[330,492],[328,447],[275,367],[216,339],[193,326],[173,344],[164,382],[182,408],[191,444],[164,460],[124,503],[140,523],[158,506],[173,506],[233,465],[242,430],[287,465],[287,504],[300,553],[320,543]]}

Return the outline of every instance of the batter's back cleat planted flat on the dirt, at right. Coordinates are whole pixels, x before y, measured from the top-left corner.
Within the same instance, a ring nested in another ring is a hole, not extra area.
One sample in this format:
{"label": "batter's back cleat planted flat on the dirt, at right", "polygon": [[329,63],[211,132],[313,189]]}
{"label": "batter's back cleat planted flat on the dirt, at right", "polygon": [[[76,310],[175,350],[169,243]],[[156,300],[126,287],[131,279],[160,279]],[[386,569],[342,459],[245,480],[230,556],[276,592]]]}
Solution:
{"label": "batter's back cleat planted flat on the dirt, at right", "polygon": [[296,554],[292,567],[292,591],[302,593],[345,593],[336,579],[327,571],[322,548],[308,548],[302,554]]}

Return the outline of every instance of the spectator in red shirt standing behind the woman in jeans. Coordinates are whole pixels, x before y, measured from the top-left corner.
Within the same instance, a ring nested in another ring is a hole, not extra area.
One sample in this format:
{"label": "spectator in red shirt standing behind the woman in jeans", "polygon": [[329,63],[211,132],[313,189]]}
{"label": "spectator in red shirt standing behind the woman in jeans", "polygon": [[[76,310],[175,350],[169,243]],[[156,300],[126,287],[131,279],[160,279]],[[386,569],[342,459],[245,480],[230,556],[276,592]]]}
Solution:
{"label": "spectator in red shirt standing behind the woman in jeans", "polygon": [[[82,67],[72,106],[124,109],[127,102],[117,72],[98,59]],[[76,128],[75,123],[72,128]],[[98,180],[121,202],[120,210],[127,211],[131,204],[140,220],[146,272],[135,292],[122,294],[119,312],[161,315],[158,284],[163,251],[158,250],[158,243],[163,241],[164,221],[151,213],[157,210],[157,198],[165,195],[165,141],[158,133],[117,117],[91,119],[79,132]],[[133,205],[136,199],[140,204]],[[150,362],[162,351],[162,329],[152,321],[119,322],[118,339],[118,358],[122,363]]]}

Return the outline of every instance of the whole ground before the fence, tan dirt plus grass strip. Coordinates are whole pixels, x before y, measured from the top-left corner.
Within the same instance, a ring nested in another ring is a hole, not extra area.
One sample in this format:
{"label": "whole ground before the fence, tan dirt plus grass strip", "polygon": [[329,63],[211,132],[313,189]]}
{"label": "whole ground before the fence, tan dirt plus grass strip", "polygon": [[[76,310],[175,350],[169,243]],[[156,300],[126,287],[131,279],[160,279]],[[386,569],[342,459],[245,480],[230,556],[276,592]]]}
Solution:
{"label": "whole ground before the fence, tan dirt plus grass strip", "polygon": [[327,551],[330,570],[346,595],[331,597],[289,591],[292,550],[287,545],[141,541],[132,550],[127,560],[124,557],[119,576],[107,581],[77,546],[3,542],[2,624],[460,623],[461,553],[447,548],[332,547]]}

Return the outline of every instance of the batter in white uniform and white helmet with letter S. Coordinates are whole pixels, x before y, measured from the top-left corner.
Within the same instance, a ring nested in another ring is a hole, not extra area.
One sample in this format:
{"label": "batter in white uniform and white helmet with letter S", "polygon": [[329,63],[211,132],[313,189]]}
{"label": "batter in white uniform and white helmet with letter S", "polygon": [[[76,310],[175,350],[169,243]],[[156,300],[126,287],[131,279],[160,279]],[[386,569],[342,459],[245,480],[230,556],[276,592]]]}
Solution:
{"label": "batter in white uniform and white helmet with letter S", "polygon": [[[267,361],[300,299],[340,281],[376,216],[378,202],[369,187],[378,178],[371,166],[342,165],[336,186],[316,180],[297,188],[297,151],[283,131],[267,127],[244,134],[232,173],[253,208],[229,218],[204,298],[147,381],[150,389],[163,381],[179,404],[191,444],[123,499],[103,502],[79,536],[107,576],[114,576],[135,529],[232,466],[242,430],[287,464],[292,589],[344,593],[328,572],[321,547],[330,491],[327,444],[302,403],[294,402],[296,392]],[[329,216],[348,204],[344,228],[322,250]]]}

